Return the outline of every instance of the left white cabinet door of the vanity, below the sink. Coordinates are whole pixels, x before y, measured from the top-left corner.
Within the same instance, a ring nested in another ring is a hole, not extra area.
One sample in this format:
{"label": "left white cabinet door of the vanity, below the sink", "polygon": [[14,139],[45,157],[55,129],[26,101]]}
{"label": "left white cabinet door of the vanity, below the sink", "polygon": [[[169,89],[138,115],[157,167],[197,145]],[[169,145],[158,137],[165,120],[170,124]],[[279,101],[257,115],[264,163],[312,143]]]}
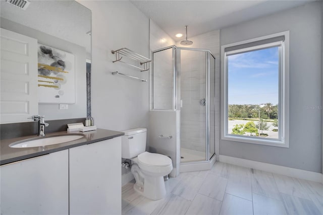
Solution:
{"label": "left white cabinet door of the vanity, below the sink", "polygon": [[0,167],[1,214],[68,214],[68,150]]}

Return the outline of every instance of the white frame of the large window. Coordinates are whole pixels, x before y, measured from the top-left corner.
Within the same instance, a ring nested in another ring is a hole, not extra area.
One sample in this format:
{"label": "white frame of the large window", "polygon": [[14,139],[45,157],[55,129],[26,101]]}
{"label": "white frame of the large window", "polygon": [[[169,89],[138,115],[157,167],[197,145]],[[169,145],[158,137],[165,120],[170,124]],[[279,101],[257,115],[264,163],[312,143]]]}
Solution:
{"label": "white frame of the large window", "polygon": [[[284,37],[280,41],[271,41],[276,37]],[[262,42],[261,42],[262,41]],[[278,44],[280,43],[280,44]],[[236,49],[235,47],[236,46]],[[279,138],[263,138],[228,134],[228,57],[238,53],[259,50],[263,48],[279,47],[279,104],[278,123]],[[239,48],[240,47],[240,48]],[[229,50],[226,50],[229,49]],[[248,39],[221,46],[221,139],[270,145],[289,148],[289,31]]]}

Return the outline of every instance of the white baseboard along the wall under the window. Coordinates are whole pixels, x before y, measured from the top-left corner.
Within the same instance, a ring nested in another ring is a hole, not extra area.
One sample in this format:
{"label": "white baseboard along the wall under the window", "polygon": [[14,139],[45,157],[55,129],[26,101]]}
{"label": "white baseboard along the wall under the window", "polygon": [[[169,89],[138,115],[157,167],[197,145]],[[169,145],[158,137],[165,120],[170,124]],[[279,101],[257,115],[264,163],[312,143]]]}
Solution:
{"label": "white baseboard along the wall under the window", "polygon": [[256,162],[254,160],[247,160],[226,155],[220,155],[220,162],[323,183],[323,175],[321,173]]}

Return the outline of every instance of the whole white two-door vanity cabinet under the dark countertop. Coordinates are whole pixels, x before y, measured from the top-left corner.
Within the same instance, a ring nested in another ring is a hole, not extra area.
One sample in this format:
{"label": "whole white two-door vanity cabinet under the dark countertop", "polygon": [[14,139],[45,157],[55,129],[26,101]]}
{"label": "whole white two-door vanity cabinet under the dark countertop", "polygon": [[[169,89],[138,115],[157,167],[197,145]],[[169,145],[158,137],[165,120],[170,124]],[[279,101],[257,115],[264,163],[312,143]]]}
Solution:
{"label": "whole white two-door vanity cabinet under the dark countertop", "polygon": [[0,167],[0,214],[121,214],[121,137]]}

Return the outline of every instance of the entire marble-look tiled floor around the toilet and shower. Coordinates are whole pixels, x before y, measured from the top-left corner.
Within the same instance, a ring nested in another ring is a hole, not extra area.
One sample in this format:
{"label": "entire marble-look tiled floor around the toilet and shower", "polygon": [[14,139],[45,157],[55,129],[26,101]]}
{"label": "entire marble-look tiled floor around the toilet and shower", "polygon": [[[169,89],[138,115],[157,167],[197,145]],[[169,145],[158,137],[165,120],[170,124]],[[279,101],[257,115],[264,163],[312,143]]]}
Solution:
{"label": "entire marble-look tiled floor around the toilet and shower", "polygon": [[122,214],[323,214],[322,184],[220,162],[170,178],[160,200],[134,183],[122,187]]}

